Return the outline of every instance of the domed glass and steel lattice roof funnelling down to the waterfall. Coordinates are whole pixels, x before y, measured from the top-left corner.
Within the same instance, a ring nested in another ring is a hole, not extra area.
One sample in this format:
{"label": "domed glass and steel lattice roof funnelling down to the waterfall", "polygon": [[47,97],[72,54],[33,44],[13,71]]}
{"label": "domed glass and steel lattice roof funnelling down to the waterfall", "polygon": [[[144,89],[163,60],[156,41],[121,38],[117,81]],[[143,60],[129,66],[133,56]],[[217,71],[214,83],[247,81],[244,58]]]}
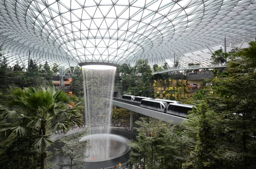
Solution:
{"label": "domed glass and steel lattice roof funnelling down to the waterfall", "polygon": [[[10,63],[149,63],[256,37],[256,0],[0,0]],[[200,55],[200,54],[199,54]],[[200,57],[205,59],[205,57]]]}

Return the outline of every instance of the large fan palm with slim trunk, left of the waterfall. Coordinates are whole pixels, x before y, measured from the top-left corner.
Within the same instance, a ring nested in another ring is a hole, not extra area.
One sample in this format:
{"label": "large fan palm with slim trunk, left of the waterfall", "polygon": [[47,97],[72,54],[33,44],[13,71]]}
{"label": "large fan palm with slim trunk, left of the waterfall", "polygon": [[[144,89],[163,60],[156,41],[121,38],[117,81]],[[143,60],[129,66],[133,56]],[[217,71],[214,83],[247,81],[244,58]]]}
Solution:
{"label": "large fan palm with slim trunk, left of the waterfall", "polygon": [[38,135],[33,146],[40,151],[40,165],[44,169],[44,152],[54,143],[49,137],[50,132],[62,129],[65,133],[74,125],[82,125],[80,112],[83,106],[78,103],[70,108],[74,101],[77,101],[76,96],[68,96],[61,90],[56,92],[53,88],[15,89],[9,100],[12,109],[0,105],[0,112],[10,121],[8,125],[0,125],[0,139],[8,138],[12,133],[23,137],[29,135],[29,131],[36,131]]}

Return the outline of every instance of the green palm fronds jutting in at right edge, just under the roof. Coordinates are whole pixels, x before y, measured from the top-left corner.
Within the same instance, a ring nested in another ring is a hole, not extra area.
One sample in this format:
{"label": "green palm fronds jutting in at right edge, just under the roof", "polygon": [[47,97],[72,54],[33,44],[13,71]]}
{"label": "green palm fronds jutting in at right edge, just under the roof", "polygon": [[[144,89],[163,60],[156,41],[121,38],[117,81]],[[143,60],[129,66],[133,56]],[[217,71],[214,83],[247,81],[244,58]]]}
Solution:
{"label": "green palm fronds jutting in at right edge, just under the roof", "polygon": [[256,40],[249,42],[248,48],[236,52],[240,59],[228,62],[227,68],[234,74],[256,73]]}

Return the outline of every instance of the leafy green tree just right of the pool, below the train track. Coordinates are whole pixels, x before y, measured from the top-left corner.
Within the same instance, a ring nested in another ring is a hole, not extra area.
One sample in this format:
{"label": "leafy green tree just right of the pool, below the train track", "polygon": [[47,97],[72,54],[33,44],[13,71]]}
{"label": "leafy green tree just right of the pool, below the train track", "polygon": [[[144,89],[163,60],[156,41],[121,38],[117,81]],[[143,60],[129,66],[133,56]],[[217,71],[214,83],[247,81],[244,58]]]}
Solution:
{"label": "leafy green tree just right of the pool, below the train track", "polygon": [[[171,124],[153,118],[140,118],[137,140],[131,141],[130,166],[147,166],[147,169],[170,169],[174,165],[175,144]],[[141,159],[141,160],[140,160]]]}

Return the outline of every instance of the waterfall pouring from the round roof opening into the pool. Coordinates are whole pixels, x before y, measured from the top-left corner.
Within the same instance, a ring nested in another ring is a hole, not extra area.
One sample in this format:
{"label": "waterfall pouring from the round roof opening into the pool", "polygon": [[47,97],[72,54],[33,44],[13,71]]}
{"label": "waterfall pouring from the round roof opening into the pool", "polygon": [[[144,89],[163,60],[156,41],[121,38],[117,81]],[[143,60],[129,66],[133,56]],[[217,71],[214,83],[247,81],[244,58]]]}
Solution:
{"label": "waterfall pouring from the round roof opening into the pool", "polygon": [[[84,117],[85,124],[91,129],[97,127],[97,134],[109,134],[111,121],[111,100],[116,67],[108,65],[82,66],[84,77]],[[89,134],[90,133],[89,131]],[[90,160],[104,160],[109,158],[110,140],[91,142]]]}

